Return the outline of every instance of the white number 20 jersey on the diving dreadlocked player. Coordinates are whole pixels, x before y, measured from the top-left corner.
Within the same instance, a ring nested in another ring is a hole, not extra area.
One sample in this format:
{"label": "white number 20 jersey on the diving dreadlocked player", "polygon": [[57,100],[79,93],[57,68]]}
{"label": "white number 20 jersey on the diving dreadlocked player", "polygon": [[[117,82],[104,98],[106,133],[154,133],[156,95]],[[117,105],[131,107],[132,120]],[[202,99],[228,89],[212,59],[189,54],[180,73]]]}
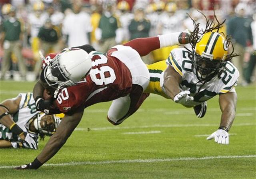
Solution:
{"label": "white number 20 jersey on the diving dreadlocked player", "polygon": [[[228,61],[222,67],[220,73],[205,84],[201,83],[194,73],[194,66],[188,57],[189,52],[185,48],[173,49],[166,60],[168,65],[174,67],[175,71],[182,77],[180,90],[189,90],[194,97],[194,105],[226,92],[234,92],[238,81],[239,72],[236,67]],[[162,89],[165,91],[163,85]]]}

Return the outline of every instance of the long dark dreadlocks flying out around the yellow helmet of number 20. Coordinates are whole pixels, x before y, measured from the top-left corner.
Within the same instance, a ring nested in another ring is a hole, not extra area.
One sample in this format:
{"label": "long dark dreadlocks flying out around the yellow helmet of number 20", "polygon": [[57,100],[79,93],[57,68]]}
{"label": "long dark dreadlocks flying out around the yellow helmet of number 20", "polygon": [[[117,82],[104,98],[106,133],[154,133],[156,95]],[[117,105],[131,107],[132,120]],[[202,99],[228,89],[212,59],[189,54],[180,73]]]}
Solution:
{"label": "long dark dreadlocks flying out around the yellow helmet of number 20", "polygon": [[[200,11],[198,11],[198,12],[200,12]],[[220,28],[222,28],[223,24],[226,22],[226,19],[223,22],[219,22],[217,17],[216,17],[216,15],[215,15],[215,11],[214,10],[213,10],[214,18],[212,20],[207,19],[207,17],[202,12],[200,12],[200,13],[204,16],[204,18],[206,20],[206,27],[205,27],[204,30],[200,29],[199,28],[200,23],[196,24],[196,20],[194,20],[187,13],[188,16],[190,17],[190,19],[193,21],[193,25],[194,25],[194,30],[191,32],[191,35],[189,37],[189,44],[192,46],[192,49],[196,48],[196,43],[198,43],[200,41],[200,38],[202,37],[202,35],[204,35],[207,32],[211,32],[211,31],[217,30],[218,33],[221,33],[225,37],[227,47],[230,44],[232,45],[232,52],[226,56],[226,61],[230,61],[233,57],[239,56],[240,54],[234,53],[234,45],[233,45],[233,43],[231,41],[231,39],[232,39],[231,35],[225,35],[223,32],[219,32]],[[216,22],[217,22],[216,24],[214,23],[214,20],[216,20]],[[184,48],[186,50],[188,50],[192,54],[192,51],[190,49],[188,49],[185,46],[184,46]]]}

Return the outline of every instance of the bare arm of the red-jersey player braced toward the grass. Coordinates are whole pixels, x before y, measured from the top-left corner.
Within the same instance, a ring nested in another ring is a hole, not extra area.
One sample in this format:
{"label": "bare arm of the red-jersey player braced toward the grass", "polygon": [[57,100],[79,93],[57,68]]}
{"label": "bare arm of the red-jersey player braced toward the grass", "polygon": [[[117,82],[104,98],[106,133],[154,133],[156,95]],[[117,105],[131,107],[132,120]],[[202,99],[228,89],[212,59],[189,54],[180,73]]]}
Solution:
{"label": "bare arm of the red-jersey player braced toward the grass", "polygon": [[82,115],[83,110],[79,110],[70,116],[65,115],[56,132],[51,136],[42,152],[38,155],[37,159],[40,163],[45,163],[58,152],[80,122]]}

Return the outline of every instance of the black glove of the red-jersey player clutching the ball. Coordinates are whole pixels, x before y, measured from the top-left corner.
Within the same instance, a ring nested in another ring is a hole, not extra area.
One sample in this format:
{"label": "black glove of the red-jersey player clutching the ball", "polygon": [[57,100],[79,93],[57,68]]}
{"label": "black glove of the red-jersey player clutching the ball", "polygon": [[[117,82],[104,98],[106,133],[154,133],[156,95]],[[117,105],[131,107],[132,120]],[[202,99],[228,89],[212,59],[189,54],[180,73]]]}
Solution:
{"label": "black glove of the red-jersey player clutching the ball", "polygon": [[36,97],[36,110],[42,111],[45,114],[57,114],[59,111],[52,108],[52,100],[44,100],[42,96]]}

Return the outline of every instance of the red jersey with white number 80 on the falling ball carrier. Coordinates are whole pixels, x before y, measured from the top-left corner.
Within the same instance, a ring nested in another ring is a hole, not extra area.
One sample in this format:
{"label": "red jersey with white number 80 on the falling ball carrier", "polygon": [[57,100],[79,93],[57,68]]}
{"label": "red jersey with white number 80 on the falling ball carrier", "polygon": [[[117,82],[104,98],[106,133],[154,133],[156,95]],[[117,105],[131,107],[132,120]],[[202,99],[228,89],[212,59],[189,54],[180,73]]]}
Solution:
{"label": "red jersey with white number 80 on the falling ball carrier", "polygon": [[[113,50],[115,49],[111,49]],[[55,56],[56,54],[50,54],[46,59],[53,59]],[[92,68],[89,75],[77,85],[59,90],[54,103],[61,112],[66,113],[80,106],[86,108],[130,93],[132,76],[122,61],[96,51],[90,53],[90,57]],[[43,65],[48,65],[48,62],[43,62]]]}

